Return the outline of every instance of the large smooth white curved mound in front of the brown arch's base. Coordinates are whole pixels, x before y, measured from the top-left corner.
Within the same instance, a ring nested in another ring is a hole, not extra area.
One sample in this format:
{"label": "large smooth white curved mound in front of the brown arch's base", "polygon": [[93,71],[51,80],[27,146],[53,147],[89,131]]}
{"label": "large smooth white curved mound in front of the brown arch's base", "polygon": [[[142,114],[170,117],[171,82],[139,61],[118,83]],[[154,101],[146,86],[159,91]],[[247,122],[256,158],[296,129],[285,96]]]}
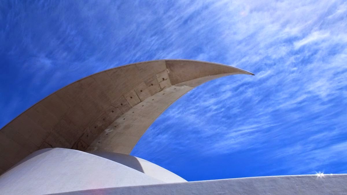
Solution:
{"label": "large smooth white curved mound in front of the brown arch's base", "polygon": [[[161,169],[158,169],[160,174]],[[167,171],[167,170],[166,170]],[[0,176],[0,194],[50,194],[86,189],[165,183],[90,153],[42,149]]]}

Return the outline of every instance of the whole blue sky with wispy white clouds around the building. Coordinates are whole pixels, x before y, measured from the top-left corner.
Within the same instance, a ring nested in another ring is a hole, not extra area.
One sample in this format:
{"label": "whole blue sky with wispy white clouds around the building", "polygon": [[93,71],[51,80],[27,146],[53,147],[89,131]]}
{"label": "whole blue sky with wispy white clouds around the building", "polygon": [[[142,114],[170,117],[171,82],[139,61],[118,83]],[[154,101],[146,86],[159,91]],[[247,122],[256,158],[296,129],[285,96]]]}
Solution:
{"label": "whole blue sky with wispy white clouds around the building", "polygon": [[194,59],[236,75],[166,110],[132,155],[187,180],[347,173],[345,1],[1,1],[0,126],[119,65]]}

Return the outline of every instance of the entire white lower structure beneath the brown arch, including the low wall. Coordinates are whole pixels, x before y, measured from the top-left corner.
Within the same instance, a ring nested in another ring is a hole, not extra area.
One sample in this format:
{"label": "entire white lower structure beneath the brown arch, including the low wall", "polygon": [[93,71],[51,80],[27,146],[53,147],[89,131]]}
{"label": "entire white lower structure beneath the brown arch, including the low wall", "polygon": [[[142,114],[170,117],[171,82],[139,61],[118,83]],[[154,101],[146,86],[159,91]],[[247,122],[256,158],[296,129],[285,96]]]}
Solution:
{"label": "entire white lower structure beneath the brown arch, including the low wall", "polygon": [[[346,194],[347,191],[347,174],[186,182],[151,162],[143,163],[140,158],[125,154],[102,152],[96,154],[106,158],[63,148],[36,151],[0,176],[0,194],[325,195]],[[148,168],[153,169],[152,172],[146,173]]]}

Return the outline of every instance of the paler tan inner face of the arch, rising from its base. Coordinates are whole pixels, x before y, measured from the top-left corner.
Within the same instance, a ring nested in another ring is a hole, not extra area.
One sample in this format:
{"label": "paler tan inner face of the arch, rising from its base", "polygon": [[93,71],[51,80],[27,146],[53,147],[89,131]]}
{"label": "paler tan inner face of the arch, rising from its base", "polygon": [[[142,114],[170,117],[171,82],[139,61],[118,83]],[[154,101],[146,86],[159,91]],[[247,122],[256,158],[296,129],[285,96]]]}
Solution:
{"label": "paler tan inner face of the arch, rising from its base", "polygon": [[105,128],[86,151],[129,154],[155,119],[169,105],[191,89],[192,87],[187,86],[171,86],[144,99]]}

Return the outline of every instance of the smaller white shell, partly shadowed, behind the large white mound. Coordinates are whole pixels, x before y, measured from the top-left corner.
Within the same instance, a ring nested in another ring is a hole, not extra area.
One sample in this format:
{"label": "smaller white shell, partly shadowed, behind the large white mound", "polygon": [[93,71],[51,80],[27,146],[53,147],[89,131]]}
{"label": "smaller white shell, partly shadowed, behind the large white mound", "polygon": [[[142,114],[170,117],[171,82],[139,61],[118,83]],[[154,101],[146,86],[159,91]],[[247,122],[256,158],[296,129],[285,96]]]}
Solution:
{"label": "smaller white shell, partly shadowed, behind the large white mound", "polygon": [[92,154],[121,163],[122,165],[143,172],[144,174],[164,181],[165,183],[187,182],[187,180],[181,178],[173,172],[142,158],[113,152],[92,152]]}

